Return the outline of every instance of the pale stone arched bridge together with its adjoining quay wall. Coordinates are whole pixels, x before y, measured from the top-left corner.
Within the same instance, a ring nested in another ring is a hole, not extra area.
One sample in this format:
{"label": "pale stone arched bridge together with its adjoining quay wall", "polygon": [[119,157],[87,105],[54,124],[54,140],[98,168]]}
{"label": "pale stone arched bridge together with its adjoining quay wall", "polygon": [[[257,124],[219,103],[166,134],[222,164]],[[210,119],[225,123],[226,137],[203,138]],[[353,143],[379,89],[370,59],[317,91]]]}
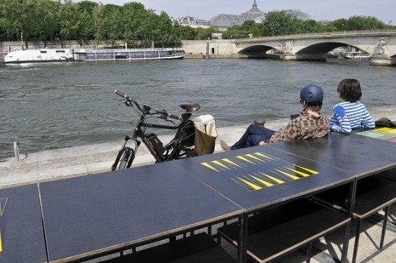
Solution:
{"label": "pale stone arched bridge together with its adjoining quay wall", "polygon": [[251,37],[239,40],[183,41],[188,55],[235,58],[280,58],[282,60],[325,61],[327,53],[352,46],[369,53],[370,65],[396,65],[396,30],[338,31]]}

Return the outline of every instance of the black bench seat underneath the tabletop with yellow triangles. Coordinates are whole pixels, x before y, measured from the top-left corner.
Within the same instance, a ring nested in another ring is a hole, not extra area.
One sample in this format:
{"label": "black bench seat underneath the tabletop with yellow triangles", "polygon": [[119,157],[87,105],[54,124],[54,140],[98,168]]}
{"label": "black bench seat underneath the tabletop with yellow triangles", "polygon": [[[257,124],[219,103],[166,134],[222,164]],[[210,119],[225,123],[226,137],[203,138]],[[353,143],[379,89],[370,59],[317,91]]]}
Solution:
{"label": "black bench seat underneath the tabletop with yellow triangles", "polygon": [[[291,205],[291,206],[290,206]],[[295,214],[294,210],[301,210]],[[283,210],[283,212],[282,212]],[[286,217],[279,217],[282,214]],[[311,241],[349,223],[350,218],[313,202],[299,201],[249,217],[247,255],[258,262],[277,259]],[[218,230],[219,234],[238,246],[238,224]]]}

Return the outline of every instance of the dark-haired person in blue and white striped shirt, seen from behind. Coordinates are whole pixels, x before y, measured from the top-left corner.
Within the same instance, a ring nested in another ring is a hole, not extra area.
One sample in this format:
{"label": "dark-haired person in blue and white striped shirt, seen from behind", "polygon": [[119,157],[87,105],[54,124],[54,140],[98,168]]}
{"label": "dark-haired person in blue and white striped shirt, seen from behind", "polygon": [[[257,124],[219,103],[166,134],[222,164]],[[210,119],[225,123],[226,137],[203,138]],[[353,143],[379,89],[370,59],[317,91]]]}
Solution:
{"label": "dark-haired person in blue and white striped shirt, seen from behind", "polygon": [[352,129],[374,128],[372,119],[361,99],[361,84],[354,78],[341,80],[337,87],[338,95],[343,102],[334,105],[330,118],[330,128],[339,133],[351,133]]}

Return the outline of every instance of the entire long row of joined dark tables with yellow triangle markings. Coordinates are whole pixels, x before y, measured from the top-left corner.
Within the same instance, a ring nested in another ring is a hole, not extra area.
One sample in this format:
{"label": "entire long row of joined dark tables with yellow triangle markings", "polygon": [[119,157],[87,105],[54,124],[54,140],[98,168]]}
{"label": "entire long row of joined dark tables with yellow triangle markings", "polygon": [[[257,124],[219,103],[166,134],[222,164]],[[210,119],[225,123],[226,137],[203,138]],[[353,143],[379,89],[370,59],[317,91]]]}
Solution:
{"label": "entire long row of joined dark tables with yellow triangle markings", "polygon": [[244,255],[247,214],[356,185],[358,178],[395,167],[395,146],[331,133],[0,189],[0,261],[80,260],[235,217]]}

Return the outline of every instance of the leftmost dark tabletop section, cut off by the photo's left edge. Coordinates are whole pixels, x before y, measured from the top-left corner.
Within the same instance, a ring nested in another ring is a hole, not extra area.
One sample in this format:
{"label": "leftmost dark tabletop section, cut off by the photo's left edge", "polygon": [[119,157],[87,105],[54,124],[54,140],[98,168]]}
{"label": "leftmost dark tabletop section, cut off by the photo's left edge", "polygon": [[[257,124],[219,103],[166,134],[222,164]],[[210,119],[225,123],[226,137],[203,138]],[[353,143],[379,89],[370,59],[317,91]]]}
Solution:
{"label": "leftmost dark tabletop section, cut off by the photo's left edge", "polygon": [[47,262],[38,185],[0,189],[0,262]]}

